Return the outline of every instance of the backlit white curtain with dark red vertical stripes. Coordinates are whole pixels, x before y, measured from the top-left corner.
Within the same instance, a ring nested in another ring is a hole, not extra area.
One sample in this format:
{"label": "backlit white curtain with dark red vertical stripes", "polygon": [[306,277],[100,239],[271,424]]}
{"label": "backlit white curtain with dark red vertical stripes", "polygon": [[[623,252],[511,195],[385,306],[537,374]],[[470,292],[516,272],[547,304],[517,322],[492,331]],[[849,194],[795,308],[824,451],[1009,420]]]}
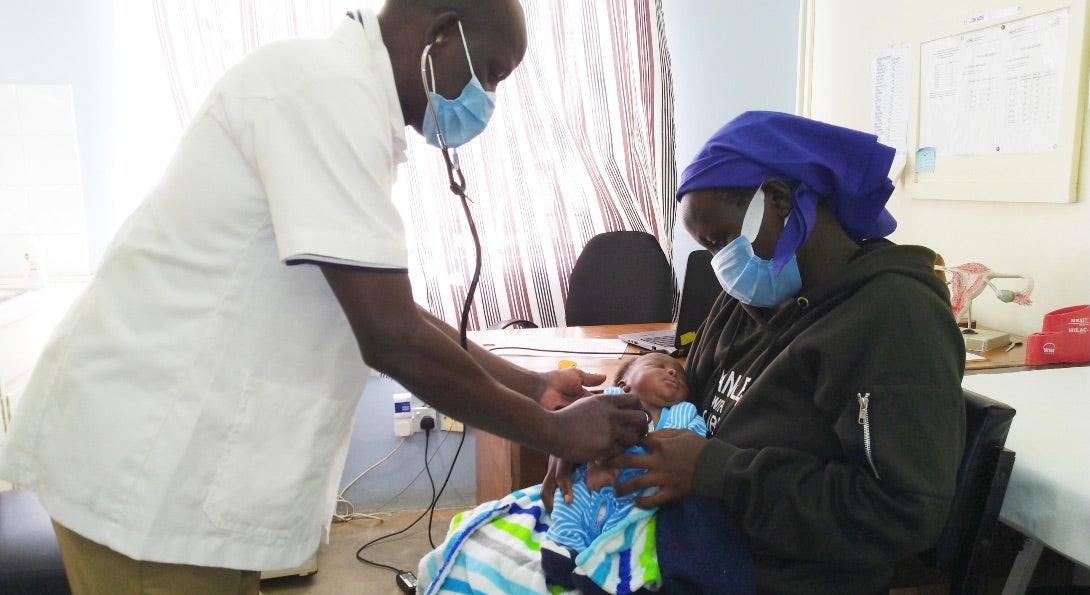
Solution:
{"label": "backlit white curtain with dark red vertical stripes", "polygon": [[[246,51],[327,35],[343,13],[329,8],[334,0],[155,2],[183,122]],[[382,1],[360,5],[378,10]],[[564,326],[571,268],[598,233],[645,231],[671,257],[677,181],[662,0],[522,5],[526,56],[499,86],[488,129],[458,150],[483,248],[470,329],[506,318]],[[214,29],[230,39],[206,39]],[[468,42],[472,53],[472,36]],[[409,232],[414,298],[457,326],[472,238],[439,151],[409,137],[395,201]]]}

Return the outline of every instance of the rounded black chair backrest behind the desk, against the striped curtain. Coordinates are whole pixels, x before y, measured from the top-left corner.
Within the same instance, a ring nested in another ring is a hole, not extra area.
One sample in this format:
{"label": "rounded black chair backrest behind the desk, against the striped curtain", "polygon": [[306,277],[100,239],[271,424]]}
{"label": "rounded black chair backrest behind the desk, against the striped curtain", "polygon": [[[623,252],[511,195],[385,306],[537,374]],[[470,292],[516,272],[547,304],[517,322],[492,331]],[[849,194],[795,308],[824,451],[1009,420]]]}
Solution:
{"label": "rounded black chair backrest behind the desk, against the striped curtain", "polygon": [[674,271],[655,236],[607,231],[591,239],[568,281],[568,326],[669,323]]}

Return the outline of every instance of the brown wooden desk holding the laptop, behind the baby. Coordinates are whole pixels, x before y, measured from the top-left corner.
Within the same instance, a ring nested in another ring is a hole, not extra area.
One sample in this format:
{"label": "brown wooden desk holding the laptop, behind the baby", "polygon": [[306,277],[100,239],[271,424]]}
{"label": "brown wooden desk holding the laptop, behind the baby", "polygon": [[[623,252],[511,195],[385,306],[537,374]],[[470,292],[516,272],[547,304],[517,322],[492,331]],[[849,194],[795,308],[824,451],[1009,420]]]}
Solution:
{"label": "brown wooden desk holding the laptop, behind the baby", "polygon": [[[562,327],[562,328],[526,328],[526,329],[505,329],[505,330],[482,330],[473,333],[473,340],[477,343],[487,343],[489,338],[510,338],[511,335],[520,339],[525,338],[525,344],[533,345],[535,339],[562,337],[567,339],[597,338],[613,339],[622,332],[638,332],[642,330],[655,330],[671,328],[668,323],[657,323],[650,325],[614,325],[598,327]],[[621,359],[586,357],[573,359],[579,362],[579,367],[588,372],[605,374],[606,385],[613,382],[614,374],[625,360],[631,359],[643,350],[628,347]],[[556,369],[557,364],[564,357],[528,357],[509,356],[511,362],[520,366],[547,372]],[[569,357],[571,359],[571,357]],[[541,451],[525,448],[521,445],[487,434],[476,433],[476,499],[477,502],[498,500],[511,491],[534,484],[540,484],[545,478],[548,466],[548,457]]]}

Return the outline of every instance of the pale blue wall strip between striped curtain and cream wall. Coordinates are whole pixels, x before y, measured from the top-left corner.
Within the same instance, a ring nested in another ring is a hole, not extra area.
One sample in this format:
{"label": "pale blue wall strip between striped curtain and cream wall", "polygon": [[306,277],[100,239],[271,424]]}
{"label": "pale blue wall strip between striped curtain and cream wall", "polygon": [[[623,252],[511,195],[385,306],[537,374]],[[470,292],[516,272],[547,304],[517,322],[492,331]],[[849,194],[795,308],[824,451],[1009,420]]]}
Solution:
{"label": "pale blue wall strip between striped curtain and cream wall", "polygon": [[[711,135],[747,110],[795,113],[800,0],[663,0],[674,73],[678,174]],[[678,222],[674,269],[700,245]]]}

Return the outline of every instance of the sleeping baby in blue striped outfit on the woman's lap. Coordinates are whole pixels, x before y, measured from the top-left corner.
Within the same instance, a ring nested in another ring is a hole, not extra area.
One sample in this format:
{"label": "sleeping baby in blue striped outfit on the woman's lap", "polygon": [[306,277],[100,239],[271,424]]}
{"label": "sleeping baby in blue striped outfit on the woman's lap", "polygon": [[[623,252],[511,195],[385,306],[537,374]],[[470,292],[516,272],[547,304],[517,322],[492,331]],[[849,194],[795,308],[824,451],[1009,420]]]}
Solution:
{"label": "sleeping baby in blue striped outfit on the woman's lap", "polygon": [[[687,401],[689,386],[685,374],[681,363],[670,355],[644,353],[621,365],[615,379],[617,386],[606,392],[638,393],[647,413],[649,430],[681,428],[704,438],[707,426],[697,408]],[[629,452],[646,451],[633,446]],[[584,594],[631,592],[658,584],[657,575],[645,580],[639,567],[594,572],[608,557],[631,557],[632,542],[646,531],[653,511],[635,508],[632,495],[618,498],[613,490],[615,482],[639,473],[642,470],[621,471],[593,461],[576,466],[571,472],[571,493],[568,498],[554,500],[553,525],[542,543],[542,567],[549,584],[578,588]],[[621,568],[615,560],[606,563]]]}

